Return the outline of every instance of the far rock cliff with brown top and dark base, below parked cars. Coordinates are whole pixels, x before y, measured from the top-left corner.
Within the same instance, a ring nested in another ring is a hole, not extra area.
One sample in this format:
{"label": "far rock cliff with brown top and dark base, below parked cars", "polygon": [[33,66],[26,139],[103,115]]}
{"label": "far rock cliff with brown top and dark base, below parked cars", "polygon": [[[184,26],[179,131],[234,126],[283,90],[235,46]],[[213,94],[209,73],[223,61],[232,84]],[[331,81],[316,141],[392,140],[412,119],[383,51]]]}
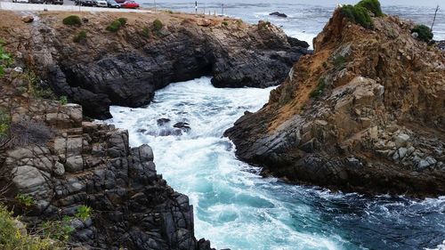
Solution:
{"label": "far rock cliff with brown top and dark base, below parked cars", "polygon": [[[106,27],[127,18],[117,32]],[[6,28],[22,40],[27,64],[59,95],[81,104],[85,115],[108,118],[109,105],[140,107],[172,82],[213,76],[218,87],[279,85],[307,43],[288,38],[268,22],[185,14],[88,14],[80,27],[65,26],[68,14],[40,14],[32,25]],[[12,17],[13,18],[13,17]],[[153,28],[153,20],[164,24]],[[73,38],[85,30],[86,38]],[[290,42],[290,43],[289,43]]]}

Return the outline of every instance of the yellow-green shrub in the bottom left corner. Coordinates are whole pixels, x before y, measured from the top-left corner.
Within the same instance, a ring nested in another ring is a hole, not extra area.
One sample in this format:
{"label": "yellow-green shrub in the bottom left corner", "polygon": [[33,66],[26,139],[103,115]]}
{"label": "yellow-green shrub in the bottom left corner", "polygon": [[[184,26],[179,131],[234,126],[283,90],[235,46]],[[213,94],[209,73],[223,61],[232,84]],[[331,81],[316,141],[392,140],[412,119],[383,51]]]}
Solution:
{"label": "yellow-green shrub in the bottom left corner", "polygon": [[16,218],[12,217],[6,207],[0,205],[0,249],[58,249],[48,239],[22,233]]}

